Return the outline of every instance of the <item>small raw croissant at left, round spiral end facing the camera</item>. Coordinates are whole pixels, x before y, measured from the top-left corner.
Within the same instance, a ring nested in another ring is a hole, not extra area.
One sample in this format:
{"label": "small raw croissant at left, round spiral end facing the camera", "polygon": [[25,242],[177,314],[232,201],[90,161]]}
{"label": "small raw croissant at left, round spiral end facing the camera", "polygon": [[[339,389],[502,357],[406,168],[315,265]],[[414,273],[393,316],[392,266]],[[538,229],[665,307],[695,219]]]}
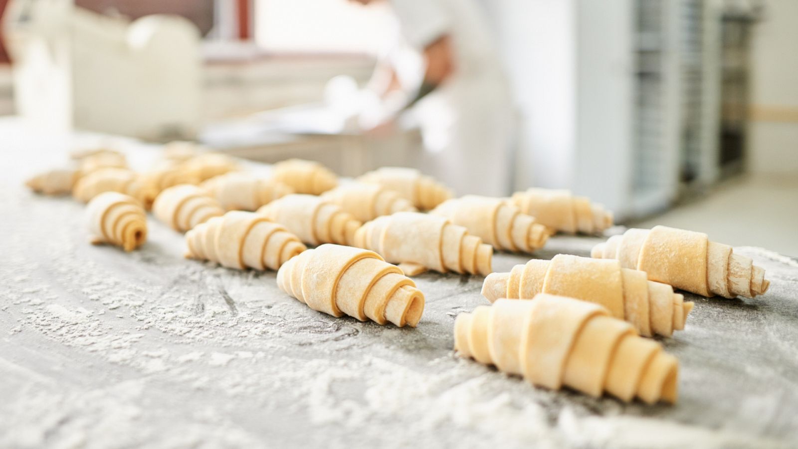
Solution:
{"label": "small raw croissant at left, round spiral end facing the camera", "polygon": [[93,197],[86,208],[92,243],[132,251],[147,240],[147,215],[138,201],[118,192]]}

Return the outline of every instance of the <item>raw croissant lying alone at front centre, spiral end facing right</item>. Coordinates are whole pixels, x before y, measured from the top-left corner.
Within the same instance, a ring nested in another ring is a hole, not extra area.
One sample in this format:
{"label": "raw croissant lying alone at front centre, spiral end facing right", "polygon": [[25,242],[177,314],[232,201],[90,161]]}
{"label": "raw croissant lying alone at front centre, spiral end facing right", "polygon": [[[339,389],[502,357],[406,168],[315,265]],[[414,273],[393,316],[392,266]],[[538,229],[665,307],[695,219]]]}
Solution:
{"label": "raw croissant lying alone at front centre, spiral end facing right", "polygon": [[424,294],[401,270],[365,249],[322,244],[288,260],[279,288],[308,307],[330,314],[416,327]]}

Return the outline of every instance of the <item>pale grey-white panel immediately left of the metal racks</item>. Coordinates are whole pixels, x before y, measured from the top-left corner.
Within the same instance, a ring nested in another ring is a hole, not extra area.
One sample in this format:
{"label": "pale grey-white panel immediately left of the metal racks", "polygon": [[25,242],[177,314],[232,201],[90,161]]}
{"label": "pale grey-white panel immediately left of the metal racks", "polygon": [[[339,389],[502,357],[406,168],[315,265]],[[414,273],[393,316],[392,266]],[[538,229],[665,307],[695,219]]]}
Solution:
{"label": "pale grey-white panel immediately left of the metal racks", "polygon": [[631,0],[579,0],[575,193],[628,212],[632,183],[633,14]]}

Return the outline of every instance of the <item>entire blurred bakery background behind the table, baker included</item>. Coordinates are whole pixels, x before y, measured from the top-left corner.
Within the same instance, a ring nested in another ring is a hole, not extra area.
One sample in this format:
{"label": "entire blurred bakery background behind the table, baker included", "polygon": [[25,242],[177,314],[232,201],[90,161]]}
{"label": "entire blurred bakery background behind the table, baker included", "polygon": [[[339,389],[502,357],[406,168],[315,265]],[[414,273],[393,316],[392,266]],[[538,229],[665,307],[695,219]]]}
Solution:
{"label": "entire blurred bakery background behind the table, baker included", "polygon": [[[796,0],[0,0],[0,114],[798,256]],[[5,149],[14,151],[15,149]]]}

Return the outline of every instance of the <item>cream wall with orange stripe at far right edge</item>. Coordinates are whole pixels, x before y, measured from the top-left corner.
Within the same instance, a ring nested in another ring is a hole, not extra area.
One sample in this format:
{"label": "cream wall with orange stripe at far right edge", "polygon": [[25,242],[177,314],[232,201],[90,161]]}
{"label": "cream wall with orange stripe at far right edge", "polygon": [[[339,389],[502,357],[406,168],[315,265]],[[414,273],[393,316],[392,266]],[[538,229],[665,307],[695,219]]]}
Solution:
{"label": "cream wall with orange stripe at far right edge", "polygon": [[798,171],[798,1],[767,0],[751,55],[749,169]]}

